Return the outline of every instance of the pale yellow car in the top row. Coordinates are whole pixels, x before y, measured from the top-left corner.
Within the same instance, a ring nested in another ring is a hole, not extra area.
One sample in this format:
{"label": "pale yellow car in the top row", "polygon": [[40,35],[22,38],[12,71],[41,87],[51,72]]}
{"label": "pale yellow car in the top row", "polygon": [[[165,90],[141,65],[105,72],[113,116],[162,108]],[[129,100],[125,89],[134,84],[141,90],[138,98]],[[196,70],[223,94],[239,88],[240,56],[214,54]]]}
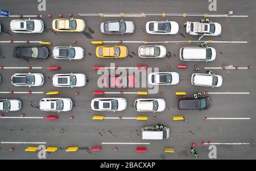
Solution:
{"label": "pale yellow car in the top row", "polygon": [[60,32],[82,32],[85,30],[86,24],[82,19],[54,19],[52,28]]}

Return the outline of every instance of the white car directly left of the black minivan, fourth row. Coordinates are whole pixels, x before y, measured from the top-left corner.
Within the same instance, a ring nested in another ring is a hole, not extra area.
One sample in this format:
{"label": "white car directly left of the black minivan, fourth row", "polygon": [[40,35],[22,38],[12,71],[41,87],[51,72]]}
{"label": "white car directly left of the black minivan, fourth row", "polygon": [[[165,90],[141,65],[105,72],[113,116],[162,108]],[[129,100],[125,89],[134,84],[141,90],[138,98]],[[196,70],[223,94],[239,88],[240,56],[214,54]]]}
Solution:
{"label": "white car directly left of the black minivan, fourth row", "polygon": [[140,98],[135,100],[134,109],[142,112],[160,112],[166,109],[166,101],[160,98]]}

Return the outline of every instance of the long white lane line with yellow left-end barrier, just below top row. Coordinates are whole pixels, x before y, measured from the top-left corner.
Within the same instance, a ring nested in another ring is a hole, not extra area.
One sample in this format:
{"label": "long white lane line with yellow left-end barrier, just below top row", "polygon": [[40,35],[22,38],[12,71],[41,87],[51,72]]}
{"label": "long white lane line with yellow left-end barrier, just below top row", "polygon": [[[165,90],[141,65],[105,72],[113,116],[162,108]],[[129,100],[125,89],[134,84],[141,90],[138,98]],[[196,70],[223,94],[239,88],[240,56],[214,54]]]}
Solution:
{"label": "long white lane line with yellow left-end barrier, just below top row", "polygon": [[155,43],[248,43],[248,41],[213,41],[213,40],[184,40],[184,41],[102,41],[96,40],[91,41],[92,44],[104,44],[104,43],[144,43],[144,44],[155,44]]}

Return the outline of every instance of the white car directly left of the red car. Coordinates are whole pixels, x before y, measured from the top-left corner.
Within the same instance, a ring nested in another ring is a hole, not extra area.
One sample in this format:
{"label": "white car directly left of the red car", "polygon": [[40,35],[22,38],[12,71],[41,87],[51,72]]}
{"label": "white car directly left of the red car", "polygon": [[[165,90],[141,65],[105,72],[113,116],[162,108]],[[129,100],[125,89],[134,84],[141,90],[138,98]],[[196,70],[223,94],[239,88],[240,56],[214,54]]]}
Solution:
{"label": "white car directly left of the red car", "polygon": [[52,76],[52,84],[56,87],[82,87],[86,84],[85,74],[55,74]]}

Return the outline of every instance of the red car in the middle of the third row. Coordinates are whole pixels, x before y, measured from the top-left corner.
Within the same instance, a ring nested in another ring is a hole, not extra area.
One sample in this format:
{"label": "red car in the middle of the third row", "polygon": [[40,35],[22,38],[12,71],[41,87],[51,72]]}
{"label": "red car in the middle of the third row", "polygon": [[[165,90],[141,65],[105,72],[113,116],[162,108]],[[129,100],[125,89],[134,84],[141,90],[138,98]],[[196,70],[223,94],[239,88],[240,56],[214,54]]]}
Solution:
{"label": "red car in the middle of the third row", "polygon": [[102,80],[102,84],[106,88],[110,87],[134,87],[136,78],[134,75],[127,76],[109,76]]}

